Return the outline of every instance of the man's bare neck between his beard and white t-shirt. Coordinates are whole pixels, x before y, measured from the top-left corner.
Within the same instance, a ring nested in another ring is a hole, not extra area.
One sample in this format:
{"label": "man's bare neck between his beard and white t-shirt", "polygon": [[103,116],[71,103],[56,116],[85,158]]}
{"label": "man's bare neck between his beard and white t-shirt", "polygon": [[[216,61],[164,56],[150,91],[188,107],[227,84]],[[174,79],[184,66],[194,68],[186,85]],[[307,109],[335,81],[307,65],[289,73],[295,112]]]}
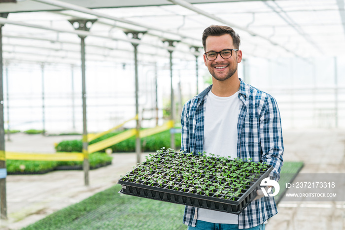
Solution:
{"label": "man's bare neck between his beard and white t-shirt", "polygon": [[218,97],[230,97],[240,89],[241,81],[238,76],[231,76],[225,81],[212,78],[212,93]]}

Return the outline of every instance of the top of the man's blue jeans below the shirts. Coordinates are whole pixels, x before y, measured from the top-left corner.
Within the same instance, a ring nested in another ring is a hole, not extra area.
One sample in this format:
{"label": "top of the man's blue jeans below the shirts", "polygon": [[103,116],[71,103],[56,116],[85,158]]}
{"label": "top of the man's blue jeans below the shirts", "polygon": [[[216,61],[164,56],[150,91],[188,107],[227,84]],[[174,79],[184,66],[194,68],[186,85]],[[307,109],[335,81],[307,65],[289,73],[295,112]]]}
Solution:
{"label": "top of the man's blue jeans below the shirts", "polygon": [[[197,220],[195,227],[188,226],[188,230],[238,230],[239,225],[230,225],[230,224],[214,224],[206,221]],[[265,225],[258,225],[253,228],[245,230],[265,230]]]}

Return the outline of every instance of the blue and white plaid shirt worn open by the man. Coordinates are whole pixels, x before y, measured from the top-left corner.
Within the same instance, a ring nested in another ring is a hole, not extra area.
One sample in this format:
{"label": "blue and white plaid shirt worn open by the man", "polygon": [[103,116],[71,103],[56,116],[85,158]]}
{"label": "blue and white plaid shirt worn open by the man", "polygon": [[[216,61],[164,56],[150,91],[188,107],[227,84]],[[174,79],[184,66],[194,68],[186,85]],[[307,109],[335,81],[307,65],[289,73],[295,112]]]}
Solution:
{"label": "blue and white plaid shirt worn open by the man", "polygon": [[[183,106],[181,151],[203,152],[206,96],[211,87],[207,87]],[[242,80],[239,99],[242,104],[237,123],[237,157],[252,158],[254,162],[267,162],[274,167],[270,174],[271,179],[278,181],[284,147],[276,100]],[[239,214],[239,229],[261,225],[276,213],[274,197],[254,200]],[[183,223],[195,227],[196,221],[196,208],[186,206]]]}

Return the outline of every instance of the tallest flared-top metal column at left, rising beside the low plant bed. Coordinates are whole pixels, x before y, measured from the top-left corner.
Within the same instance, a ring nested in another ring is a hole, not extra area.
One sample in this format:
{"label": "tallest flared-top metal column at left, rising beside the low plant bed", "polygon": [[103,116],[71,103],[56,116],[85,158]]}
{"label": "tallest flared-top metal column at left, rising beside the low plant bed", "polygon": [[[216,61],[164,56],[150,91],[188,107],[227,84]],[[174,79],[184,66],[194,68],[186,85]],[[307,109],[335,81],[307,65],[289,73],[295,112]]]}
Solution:
{"label": "tallest flared-top metal column at left, rising beside the low plant bed", "polygon": [[[97,19],[69,20],[75,30],[90,31],[90,28]],[[81,79],[82,79],[82,101],[83,101],[83,154],[84,154],[84,184],[89,185],[89,152],[87,141],[87,120],[86,120],[86,80],[85,80],[85,35],[78,35],[81,45]]]}

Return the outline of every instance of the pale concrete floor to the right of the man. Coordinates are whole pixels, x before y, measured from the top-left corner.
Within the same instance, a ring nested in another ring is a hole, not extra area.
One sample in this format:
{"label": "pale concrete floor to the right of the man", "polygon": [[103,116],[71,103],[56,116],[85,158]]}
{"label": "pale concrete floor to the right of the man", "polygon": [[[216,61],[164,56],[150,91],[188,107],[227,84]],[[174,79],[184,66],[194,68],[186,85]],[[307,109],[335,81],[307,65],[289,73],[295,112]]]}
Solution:
{"label": "pale concrete floor to the right of the man", "polygon": [[[300,173],[345,173],[345,130],[289,130],[283,138],[284,161],[304,162]],[[282,199],[266,230],[345,230],[345,200]]]}

